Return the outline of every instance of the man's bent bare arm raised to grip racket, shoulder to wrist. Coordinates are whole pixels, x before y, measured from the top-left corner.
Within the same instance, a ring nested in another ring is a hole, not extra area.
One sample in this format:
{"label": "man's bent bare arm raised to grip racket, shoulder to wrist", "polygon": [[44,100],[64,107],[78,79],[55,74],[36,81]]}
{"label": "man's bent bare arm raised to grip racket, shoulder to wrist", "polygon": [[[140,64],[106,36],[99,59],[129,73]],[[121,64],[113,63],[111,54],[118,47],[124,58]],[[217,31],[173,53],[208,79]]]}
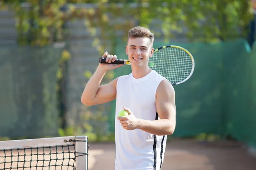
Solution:
{"label": "man's bent bare arm raised to grip racket, shoulder to wrist", "polygon": [[81,102],[84,105],[98,105],[110,102],[116,98],[116,82],[118,78],[114,79],[109,84],[100,86],[105,73],[106,70],[103,67],[98,67],[87,82],[81,96]]}

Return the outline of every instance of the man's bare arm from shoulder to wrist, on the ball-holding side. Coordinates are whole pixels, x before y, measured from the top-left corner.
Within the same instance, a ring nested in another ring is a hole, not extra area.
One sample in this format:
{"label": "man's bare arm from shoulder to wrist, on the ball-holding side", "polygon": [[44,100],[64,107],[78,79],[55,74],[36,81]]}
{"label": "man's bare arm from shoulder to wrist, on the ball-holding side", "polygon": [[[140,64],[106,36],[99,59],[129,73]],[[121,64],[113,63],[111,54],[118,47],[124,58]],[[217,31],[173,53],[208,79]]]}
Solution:
{"label": "man's bare arm from shoulder to wrist, on the ball-holding side", "polygon": [[158,120],[138,119],[138,129],[154,135],[172,135],[176,126],[175,91],[172,85],[163,80],[156,92]]}

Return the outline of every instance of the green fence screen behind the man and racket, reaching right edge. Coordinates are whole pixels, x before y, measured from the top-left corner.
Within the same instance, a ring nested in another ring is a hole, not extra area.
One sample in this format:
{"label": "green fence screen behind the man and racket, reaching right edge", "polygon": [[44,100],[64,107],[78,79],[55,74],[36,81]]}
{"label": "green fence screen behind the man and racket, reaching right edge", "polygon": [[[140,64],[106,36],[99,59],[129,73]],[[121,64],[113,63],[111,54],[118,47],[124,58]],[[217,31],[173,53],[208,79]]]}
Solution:
{"label": "green fence screen behind the man and racket, reaching right edge", "polygon": [[[119,43],[116,48],[119,58],[127,59],[125,45]],[[155,42],[154,48],[162,45]],[[187,82],[174,87],[177,127],[173,136],[232,135],[256,145],[256,46],[250,51],[244,40],[175,45],[192,53],[195,71]],[[131,72],[130,66],[124,67],[115,70],[116,77]],[[114,114],[115,101],[112,106]],[[113,130],[115,118],[111,117]]]}

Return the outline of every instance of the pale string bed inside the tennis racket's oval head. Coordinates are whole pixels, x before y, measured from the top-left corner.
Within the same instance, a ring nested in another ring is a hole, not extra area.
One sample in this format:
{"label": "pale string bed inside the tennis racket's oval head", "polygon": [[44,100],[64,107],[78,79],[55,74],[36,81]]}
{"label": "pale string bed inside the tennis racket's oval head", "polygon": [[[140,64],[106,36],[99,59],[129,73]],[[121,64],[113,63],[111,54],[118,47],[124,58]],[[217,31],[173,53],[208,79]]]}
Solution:
{"label": "pale string bed inside the tennis racket's oval head", "polygon": [[180,48],[163,48],[149,58],[151,62],[154,63],[151,68],[172,83],[186,79],[193,67],[189,54]]}

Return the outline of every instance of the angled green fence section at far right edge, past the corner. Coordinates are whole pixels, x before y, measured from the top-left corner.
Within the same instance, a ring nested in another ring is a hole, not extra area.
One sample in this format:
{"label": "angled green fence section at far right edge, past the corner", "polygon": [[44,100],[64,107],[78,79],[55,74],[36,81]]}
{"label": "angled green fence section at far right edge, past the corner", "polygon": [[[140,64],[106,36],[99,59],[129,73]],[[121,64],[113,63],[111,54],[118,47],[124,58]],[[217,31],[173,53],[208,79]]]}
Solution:
{"label": "angled green fence section at far right edge, past the corner", "polygon": [[250,54],[224,62],[224,133],[256,147],[256,44]]}

